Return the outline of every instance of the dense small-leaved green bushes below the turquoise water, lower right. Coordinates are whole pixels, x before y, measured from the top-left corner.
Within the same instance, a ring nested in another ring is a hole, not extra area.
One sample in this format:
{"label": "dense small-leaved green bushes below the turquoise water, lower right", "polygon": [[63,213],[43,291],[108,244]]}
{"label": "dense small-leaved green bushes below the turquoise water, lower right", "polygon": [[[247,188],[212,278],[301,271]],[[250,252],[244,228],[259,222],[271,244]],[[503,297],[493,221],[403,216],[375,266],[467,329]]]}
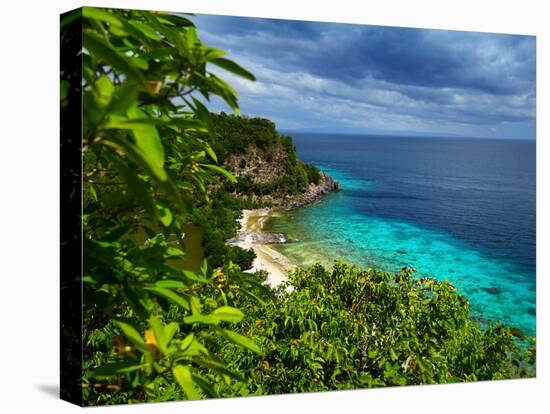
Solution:
{"label": "dense small-leaved green bushes below the turquoise water, lower right", "polygon": [[[293,290],[289,293],[288,286]],[[535,348],[512,332],[470,320],[449,282],[335,263],[290,275],[279,300],[248,301],[241,333],[265,350],[238,349],[230,366],[259,394],[492,380],[534,375]]]}

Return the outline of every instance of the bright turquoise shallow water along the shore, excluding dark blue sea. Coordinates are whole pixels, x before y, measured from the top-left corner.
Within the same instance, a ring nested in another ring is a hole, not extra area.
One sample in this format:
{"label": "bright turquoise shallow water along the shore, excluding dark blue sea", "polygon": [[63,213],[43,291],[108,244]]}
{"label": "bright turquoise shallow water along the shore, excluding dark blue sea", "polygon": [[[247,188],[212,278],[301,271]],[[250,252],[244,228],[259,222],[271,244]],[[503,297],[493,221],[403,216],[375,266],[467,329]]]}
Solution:
{"label": "bright turquoise shallow water along the shore, excluding dark blue sea", "polygon": [[276,248],[291,261],[307,266],[316,262],[330,265],[340,259],[391,272],[414,267],[419,276],[453,282],[480,321],[500,321],[535,335],[532,268],[436,226],[385,217],[383,211],[369,213],[363,208],[368,197],[358,201],[357,192],[380,192],[378,180],[354,176],[334,165],[318,165],[339,181],[343,190],[272,220],[271,230],[289,237],[289,243]]}

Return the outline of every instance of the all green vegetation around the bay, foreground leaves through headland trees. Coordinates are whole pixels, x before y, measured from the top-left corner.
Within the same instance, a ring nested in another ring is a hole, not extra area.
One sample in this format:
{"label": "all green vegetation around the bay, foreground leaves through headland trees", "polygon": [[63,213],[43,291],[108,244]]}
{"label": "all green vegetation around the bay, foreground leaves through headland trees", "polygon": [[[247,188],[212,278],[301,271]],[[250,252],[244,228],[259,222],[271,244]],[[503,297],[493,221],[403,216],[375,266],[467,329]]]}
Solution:
{"label": "all green vegetation around the bay, foreground leaves through headland trees", "polygon": [[[83,14],[87,405],[533,374],[534,348],[471,321],[449,283],[336,264],[274,292],[265,274],[243,273],[253,253],[225,244],[240,209],[299,192],[319,171],[273,123],[208,112],[213,95],[238,111],[212,65],[254,76],[203,45],[186,16]],[[286,181],[265,187],[220,166],[251,146],[285,159]],[[204,232],[196,269],[178,266],[190,224]]]}

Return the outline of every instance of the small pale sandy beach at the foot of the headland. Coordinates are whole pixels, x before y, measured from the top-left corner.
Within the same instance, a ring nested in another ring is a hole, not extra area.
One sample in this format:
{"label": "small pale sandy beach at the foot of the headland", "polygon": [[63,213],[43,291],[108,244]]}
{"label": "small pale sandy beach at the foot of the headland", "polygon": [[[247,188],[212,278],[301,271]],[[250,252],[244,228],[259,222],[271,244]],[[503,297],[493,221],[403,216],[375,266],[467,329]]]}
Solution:
{"label": "small pale sandy beach at the foot of the headland", "polygon": [[264,244],[265,240],[259,236],[265,222],[274,214],[276,212],[268,208],[243,210],[243,217],[239,220],[240,228],[237,231],[237,237],[231,241],[232,244],[243,249],[254,250],[256,259],[252,264],[252,268],[247,272],[254,273],[265,270],[268,273],[267,283],[273,288],[285,282],[288,271],[295,267],[284,255]]}

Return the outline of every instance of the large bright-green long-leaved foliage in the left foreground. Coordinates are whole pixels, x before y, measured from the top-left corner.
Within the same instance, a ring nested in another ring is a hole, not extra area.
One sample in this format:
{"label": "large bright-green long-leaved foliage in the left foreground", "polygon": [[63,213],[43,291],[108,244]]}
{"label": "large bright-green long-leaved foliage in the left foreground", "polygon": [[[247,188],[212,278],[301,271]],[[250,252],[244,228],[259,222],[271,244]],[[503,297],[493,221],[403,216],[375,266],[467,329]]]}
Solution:
{"label": "large bright-green long-leaved foliage in the left foreground", "polygon": [[167,13],[84,8],[82,61],[85,400],[175,398],[160,390],[176,384],[177,398],[216,396],[210,377],[240,376],[212,343],[261,353],[230,329],[243,317],[232,297],[261,285],[232,265],[192,272],[173,261],[185,256],[184,226],[203,221],[208,183],[235,181],[201,138],[215,134],[205,99],[238,111],[210,69],[254,76]]}

